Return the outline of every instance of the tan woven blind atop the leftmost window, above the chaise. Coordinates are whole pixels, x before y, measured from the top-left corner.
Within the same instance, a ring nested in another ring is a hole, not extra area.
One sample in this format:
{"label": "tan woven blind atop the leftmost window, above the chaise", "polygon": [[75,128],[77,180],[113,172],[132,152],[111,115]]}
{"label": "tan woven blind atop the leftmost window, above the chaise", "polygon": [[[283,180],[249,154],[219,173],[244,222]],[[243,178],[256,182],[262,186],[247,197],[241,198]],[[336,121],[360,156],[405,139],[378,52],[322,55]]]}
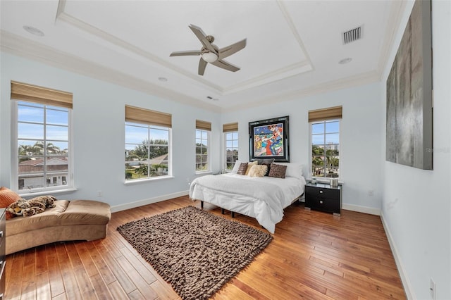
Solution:
{"label": "tan woven blind atop the leftmost window, above the chaise", "polygon": [[11,80],[11,100],[72,108],[73,94]]}

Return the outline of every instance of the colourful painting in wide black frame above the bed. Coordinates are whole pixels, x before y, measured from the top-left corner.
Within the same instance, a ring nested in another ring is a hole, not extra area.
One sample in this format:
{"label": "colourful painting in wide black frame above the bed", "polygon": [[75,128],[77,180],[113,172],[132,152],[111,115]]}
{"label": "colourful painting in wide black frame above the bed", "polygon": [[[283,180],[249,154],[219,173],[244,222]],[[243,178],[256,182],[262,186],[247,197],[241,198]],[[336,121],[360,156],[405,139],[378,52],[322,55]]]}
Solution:
{"label": "colourful painting in wide black frame above the bed", "polygon": [[288,115],[280,118],[249,122],[250,160],[274,158],[289,162]]}

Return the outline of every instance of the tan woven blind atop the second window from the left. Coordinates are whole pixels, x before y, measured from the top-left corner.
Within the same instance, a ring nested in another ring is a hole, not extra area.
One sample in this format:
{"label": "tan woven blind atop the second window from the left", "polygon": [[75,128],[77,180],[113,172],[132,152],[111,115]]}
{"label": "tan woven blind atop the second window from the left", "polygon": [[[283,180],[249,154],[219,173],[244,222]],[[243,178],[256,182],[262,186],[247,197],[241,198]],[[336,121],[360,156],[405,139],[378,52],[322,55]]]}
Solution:
{"label": "tan woven blind atop the second window from the left", "polygon": [[125,106],[125,120],[133,123],[172,127],[171,113],[160,113],[135,106]]}

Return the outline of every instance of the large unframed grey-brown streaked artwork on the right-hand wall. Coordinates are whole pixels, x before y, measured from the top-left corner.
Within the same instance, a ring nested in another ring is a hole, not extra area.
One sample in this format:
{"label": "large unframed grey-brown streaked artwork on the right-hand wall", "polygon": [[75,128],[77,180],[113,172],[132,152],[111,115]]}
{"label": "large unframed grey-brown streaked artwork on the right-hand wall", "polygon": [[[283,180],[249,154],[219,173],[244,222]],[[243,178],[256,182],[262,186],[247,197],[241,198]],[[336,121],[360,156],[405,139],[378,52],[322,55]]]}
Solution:
{"label": "large unframed grey-brown streaked artwork on the right-hand wall", "polygon": [[415,1],[387,79],[385,159],[433,169],[431,1]]}

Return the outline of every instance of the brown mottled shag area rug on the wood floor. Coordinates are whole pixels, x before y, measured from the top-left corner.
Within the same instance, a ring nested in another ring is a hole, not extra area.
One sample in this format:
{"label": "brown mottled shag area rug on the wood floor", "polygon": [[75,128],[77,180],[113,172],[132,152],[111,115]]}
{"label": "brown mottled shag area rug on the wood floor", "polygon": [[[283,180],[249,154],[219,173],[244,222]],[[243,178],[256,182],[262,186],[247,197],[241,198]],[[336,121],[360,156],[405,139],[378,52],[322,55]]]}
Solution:
{"label": "brown mottled shag area rug on the wood floor", "polygon": [[194,206],[121,225],[118,232],[183,299],[208,299],[273,239]]}

